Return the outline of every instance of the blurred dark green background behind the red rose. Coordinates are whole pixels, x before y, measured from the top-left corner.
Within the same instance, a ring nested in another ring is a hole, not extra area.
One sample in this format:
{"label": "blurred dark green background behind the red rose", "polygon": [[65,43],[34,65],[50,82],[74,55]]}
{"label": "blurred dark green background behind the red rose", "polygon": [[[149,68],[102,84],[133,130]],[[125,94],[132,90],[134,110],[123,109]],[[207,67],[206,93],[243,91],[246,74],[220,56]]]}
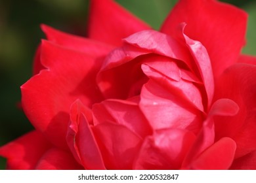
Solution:
{"label": "blurred dark green background behind the red rose", "polygon": [[[117,0],[158,29],[177,0]],[[249,14],[245,54],[256,55],[256,1],[226,0]],[[37,45],[44,38],[39,25],[85,35],[89,0],[0,0],[0,146],[33,129],[18,108],[20,86],[32,76]],[[5,169],[0,158],[0,169]]]}

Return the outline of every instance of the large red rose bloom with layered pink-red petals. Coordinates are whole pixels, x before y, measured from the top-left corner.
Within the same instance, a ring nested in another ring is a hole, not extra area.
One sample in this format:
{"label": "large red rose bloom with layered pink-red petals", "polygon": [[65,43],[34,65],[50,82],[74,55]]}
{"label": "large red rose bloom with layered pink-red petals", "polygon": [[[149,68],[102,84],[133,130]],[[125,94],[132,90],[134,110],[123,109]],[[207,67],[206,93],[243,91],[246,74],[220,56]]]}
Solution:
{"label": "large red rose bloom with layered pink-red petals", "polygon": [[180,0],[159,31],[91,0],[88,37],[47,25],[21,86],[35,130],[7,169],[256,169],[256,58],[247,14]]}

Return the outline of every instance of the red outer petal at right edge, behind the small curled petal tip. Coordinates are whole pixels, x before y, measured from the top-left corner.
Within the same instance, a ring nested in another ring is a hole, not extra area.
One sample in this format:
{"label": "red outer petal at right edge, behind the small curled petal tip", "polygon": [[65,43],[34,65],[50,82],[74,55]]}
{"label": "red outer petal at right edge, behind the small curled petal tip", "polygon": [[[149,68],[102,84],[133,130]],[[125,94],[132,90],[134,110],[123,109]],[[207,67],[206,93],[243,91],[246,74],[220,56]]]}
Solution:
{"label": "red outer petal at right edge, behind the small curled petal tip", "polygon": [[238,63],[217,80],[215,98],[232,99],[240,110],[234,117],[215,117],[216,138],[236,141],[236,158],[256,150],[256,67]]}

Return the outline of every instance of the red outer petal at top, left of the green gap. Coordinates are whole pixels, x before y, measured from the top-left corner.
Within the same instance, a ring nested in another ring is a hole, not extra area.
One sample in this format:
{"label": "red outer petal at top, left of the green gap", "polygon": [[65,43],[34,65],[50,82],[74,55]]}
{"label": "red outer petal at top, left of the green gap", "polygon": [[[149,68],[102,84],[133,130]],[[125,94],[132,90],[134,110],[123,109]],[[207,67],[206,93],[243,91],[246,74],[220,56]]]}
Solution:
{"label": "red outer petal at top, left of the green gap", "polygon": [[144,29],[150,27],[113,0],[91,0],[89,14],[91,39],[119,46],[121,39]]}

